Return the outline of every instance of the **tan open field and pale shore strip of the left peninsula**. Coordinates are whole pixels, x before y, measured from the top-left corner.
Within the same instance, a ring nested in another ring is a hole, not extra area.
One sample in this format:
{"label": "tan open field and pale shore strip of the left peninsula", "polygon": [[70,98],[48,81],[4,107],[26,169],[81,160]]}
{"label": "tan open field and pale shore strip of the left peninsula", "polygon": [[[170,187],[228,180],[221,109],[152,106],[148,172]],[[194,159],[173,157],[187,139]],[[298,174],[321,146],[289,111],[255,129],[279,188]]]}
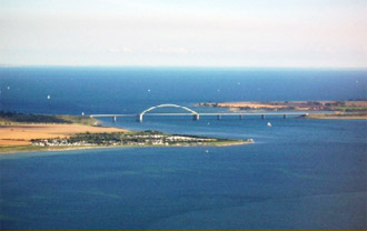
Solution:
{"label": "tan open field and pale shore strip of the left peninsula", "polygon": [[116,127],[92,127],[82,124],[49,124],[49,123],[16,123],[0,125],[0,154],[38,152],[38,151],[71,151],[103,148],[141,148],[141,147],[229,147],[252,143],[252,140],[218,139],[201,143],[176,142],[169,144],[86,144],[86,145],[34,145],[32,140],[69,139],[79,133],[103,135],[120,132],[133,135],[133,131]]}

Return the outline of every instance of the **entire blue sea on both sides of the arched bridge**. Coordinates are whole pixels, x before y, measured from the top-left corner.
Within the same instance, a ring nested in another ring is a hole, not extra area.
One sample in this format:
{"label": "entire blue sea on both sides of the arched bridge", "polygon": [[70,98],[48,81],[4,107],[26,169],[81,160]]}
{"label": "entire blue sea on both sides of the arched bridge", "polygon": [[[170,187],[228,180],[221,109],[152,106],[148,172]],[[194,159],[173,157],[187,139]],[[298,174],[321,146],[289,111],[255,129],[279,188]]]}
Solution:
{"label": "entire blue sea on both sides of the arched bridge", "polygon": [[[226,109],[195,104],[366,99],[366,87],[357,69],[0,68],[0,110],[138,113],[175,103],[214,112]],[[2,230],[367,229],[366,120],[102,123],[255,143],[1,154]]]}

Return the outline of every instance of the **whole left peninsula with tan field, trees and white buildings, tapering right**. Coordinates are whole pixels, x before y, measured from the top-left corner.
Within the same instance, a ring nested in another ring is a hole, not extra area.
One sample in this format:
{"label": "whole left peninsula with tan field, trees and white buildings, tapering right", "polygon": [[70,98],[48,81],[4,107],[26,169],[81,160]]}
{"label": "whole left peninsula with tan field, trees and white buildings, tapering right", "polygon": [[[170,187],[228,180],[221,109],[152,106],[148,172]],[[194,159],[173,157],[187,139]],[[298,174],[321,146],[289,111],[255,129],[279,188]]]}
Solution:
{"label": "whole left peninsula with tan field, trees and white buildings, tapering right", "polygon": [[232,140],[160,131],[129,131],[102,127],[79,116],[23,114],[0,111],[0,153],[108,147],[235,145],[252,139]]}

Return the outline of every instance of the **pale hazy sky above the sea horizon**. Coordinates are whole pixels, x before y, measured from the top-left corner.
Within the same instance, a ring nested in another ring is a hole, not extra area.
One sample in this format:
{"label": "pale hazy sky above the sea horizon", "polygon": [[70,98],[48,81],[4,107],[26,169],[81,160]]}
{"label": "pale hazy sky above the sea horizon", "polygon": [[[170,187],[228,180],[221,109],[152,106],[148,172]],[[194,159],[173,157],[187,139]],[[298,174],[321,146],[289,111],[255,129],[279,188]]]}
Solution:
{"label": "pale hazy sky above the sea horizon", "polygon": [[367,1],[0,0],[0,64],[367,67]]}

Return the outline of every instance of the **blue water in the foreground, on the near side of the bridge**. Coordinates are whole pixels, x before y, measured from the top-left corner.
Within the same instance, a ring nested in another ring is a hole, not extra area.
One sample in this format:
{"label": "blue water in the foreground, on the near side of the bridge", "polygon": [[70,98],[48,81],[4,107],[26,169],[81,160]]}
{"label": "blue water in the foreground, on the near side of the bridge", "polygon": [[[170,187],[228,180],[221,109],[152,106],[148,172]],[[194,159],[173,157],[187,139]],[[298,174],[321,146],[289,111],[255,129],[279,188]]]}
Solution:
{"label": "blue water in the foreground, on the near side of the bridge", "polygon": [[3,155],[1,225],[365,229],[365,121],[269,120],[118,123],[255,138],[247,145]]}

